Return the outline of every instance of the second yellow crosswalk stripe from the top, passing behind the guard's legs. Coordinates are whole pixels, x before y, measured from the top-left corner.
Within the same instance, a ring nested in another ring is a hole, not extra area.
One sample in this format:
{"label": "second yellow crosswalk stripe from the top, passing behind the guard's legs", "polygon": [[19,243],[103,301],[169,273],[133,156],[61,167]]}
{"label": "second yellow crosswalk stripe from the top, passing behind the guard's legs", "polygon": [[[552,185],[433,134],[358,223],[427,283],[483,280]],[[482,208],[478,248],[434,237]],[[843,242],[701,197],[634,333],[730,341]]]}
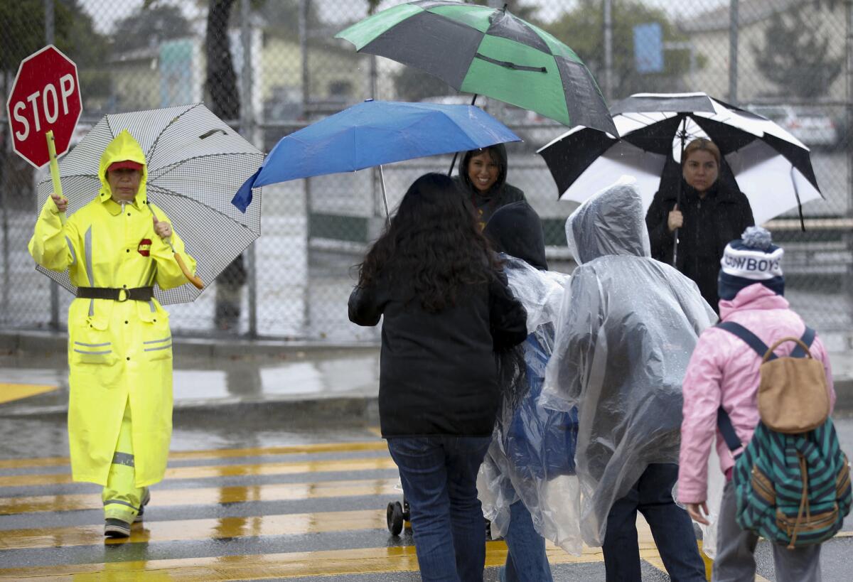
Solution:
{"label": "second yellow crosswalk stripe from the top, passing behind the guard's legs", "polygon": [[[397,469],[391,457],[298,461],[293,463],[251,463],[241,465],[204,465],[166,469],[165,479],[206,479],[241,475],[328,473],[333,471],[368,471]],[[61,485],[73,482],[70,473],[22,474],[0,476],[0,487]]]}

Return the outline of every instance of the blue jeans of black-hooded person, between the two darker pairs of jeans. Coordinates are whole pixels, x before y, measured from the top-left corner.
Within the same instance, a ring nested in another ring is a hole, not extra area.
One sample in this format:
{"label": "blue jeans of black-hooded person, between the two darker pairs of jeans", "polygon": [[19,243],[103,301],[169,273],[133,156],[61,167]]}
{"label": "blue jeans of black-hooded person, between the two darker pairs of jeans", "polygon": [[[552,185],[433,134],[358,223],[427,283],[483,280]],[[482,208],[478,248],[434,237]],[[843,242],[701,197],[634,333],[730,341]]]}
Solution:
{"label": "blue jeans of black-hooded person, between the two darker pairs of jeans", "polygon": [[501,582],[553,582],[545,554],[545,540],[533,527],[531,512],[524,503],[509,506],[507,564],[498,574]]}

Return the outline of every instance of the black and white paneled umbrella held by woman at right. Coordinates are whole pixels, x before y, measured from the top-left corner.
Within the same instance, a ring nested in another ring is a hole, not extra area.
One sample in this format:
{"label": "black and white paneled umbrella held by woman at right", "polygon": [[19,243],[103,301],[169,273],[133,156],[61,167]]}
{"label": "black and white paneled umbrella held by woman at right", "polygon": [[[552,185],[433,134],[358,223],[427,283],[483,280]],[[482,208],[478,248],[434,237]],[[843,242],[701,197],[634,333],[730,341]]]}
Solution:
{"label": "black and white paneled umbrella held by woman at right", "polygon": [[809,148],[773,121],[705,93],[640,93],[611,113],[619,138],[576,126],[538,150],[561,200],[583,202],[624,174],[636,179],[648,208],[667,160],[680,162],[684,143],[696,137],[720,148],[756,224],[823,197]]}

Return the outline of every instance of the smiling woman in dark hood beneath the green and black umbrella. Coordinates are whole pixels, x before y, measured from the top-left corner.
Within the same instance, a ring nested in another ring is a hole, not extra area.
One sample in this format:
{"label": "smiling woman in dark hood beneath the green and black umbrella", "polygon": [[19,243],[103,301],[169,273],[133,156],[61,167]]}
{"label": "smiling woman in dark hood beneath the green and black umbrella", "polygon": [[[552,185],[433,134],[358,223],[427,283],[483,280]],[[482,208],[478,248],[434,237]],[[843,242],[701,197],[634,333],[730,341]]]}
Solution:
{"label": "smiling woman in dark hood beneath the green and black umbrella", "polygon": [[502,143],[465,152],[453,179],[474,207],[480,230],[498,208],[525,200],[524,192],[507,183],[507,148]]}

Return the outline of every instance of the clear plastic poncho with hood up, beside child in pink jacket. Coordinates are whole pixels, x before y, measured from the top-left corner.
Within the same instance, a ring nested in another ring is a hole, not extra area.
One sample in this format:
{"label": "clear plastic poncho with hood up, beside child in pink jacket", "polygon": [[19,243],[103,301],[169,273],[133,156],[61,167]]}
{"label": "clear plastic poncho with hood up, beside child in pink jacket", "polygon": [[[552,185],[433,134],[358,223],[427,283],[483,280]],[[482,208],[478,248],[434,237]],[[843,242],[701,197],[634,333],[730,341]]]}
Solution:
{"label": "clear plastic poncho with hood up, beside child in pink jacket", "polygon": [[566,221],[577,269],[563,298],[543,405],[577,407],[581,533],[650,463],[678,463],[682,380],[699,333],[717,320],[696,284],[650,258],[640,194],[621,178]]}

